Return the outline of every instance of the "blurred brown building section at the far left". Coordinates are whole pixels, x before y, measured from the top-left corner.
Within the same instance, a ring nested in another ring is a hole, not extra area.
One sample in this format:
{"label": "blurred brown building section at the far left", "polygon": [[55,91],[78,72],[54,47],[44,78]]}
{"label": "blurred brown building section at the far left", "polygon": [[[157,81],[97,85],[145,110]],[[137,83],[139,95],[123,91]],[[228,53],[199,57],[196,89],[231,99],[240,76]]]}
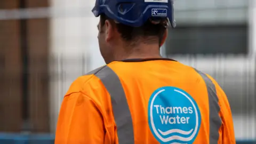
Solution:
{"label": "blurred brown building section at the far left", "polygon": [[[47,6],[2,0],[1,17],[13,15],[3,15],[5,10]],[[49,132],[49,18],[0,20],[0,34],[0,131],[20,132],[33,124],[33,132]]]}

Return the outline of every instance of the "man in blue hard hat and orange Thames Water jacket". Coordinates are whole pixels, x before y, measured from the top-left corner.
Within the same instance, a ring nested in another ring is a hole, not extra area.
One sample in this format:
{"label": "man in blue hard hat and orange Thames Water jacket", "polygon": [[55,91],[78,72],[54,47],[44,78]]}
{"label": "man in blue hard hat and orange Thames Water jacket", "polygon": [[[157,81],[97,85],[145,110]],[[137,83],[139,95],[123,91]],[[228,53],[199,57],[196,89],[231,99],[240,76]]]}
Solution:
{"label": "man in blue hard hat and orange Thames Water jacket", "polygon": [[159,54],[176,25],[172,0],[97,0],[92,12],[107,65],[71,84],[55,144],[235,143],[218,83]]}

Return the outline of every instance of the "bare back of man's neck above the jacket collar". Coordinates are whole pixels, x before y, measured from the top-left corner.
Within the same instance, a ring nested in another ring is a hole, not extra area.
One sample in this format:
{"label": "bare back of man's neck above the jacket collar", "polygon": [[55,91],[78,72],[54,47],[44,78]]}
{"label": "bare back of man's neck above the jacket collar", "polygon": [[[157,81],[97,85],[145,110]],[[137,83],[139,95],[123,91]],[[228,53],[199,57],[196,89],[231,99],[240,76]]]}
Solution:
{"label": "bare back of man's neck above the jacket collar", "polygon": [[141,43],[133,47],[122,47],[123,49],[114,53],[114,60],[162,58],[158,44]]}

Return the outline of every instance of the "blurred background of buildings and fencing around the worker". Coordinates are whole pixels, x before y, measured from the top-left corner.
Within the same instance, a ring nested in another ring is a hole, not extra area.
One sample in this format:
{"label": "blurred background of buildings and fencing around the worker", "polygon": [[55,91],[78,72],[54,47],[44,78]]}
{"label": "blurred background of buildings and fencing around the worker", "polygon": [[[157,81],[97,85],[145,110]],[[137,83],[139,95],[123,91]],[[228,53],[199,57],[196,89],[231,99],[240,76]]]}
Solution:
{"label": "blurred background of buildings and fencing around the worker", "polygon": [[[105,64],[95,0],[0,0],[0,143],[54,141],[63,95]],[[256,0],[174,1],[177,28],[161,49],[226,92],[237,143],[256,143]]]}

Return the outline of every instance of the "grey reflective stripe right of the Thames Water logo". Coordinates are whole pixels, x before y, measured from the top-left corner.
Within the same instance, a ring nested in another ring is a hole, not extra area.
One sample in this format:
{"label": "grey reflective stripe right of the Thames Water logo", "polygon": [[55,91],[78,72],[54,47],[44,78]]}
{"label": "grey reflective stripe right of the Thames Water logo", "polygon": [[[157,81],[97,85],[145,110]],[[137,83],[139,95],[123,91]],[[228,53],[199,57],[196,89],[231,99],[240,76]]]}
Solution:
{"label": "grey reflective stripe right of the Thames Water logo", "polygon": [[221,118],[219,116],[220,106],[219,99],[216,93],[216,87],[207,75],[195,69],[200,74],[207,87],[208,99],[209,99],[209,124],[210,124],[210,144],[218,143],[219,140],[219,129],[221,126]]}

